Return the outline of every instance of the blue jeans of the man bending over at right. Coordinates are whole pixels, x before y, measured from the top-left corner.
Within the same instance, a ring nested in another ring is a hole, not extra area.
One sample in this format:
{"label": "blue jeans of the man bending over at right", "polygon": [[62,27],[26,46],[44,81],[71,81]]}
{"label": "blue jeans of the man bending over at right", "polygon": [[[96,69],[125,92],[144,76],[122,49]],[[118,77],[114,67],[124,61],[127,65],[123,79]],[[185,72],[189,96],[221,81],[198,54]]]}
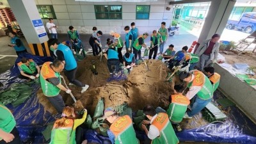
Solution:
{"label": "blue jeans of the man bending over at right", "polygon": [[202,111],[202,109],[205,108],[205,106],[211,102],[212,99],[207,99],[207,100],[202,100],[200,99],[197,95],[195,95],[195,102],[193,103],[193,106],[191,108],[191,111],[189,111],[187,114],[188,116],[194,116],[197,113],[199,113],[200,111]]}

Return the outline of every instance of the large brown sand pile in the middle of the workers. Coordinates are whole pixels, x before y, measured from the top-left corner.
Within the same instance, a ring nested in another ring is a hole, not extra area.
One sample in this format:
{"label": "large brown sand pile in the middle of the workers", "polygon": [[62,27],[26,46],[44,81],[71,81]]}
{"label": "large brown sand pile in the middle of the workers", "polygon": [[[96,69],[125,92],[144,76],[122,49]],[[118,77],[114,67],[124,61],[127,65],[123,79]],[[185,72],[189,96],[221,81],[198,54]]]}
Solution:
{"label": "large brown sand pile in the middle of the workers", "polygon": [[[92,61],[95,61],[98,75],[92,73]],[[80,93],[81,88],[76,86],[70,86],[70,89],[91,114],[101,98],[104,98],[105,108],[118,106],[124,102],[127,102],[133,110],[143,109],[147,104],[166,108],[169,104],[168,97],[173,93],[175,77],[172,83],[166,82],[167,68],[164,63],[159,60],[146,60],[146,62],[149,70],[144,63],[141,63],[133,68],[125,81],[107,83],[110,76],[106,59],[102,58],[100,61],[97,56],[88,56],[84,61],[77,62],[76,77],[79,81],[89,84],[90,88],[83,94]],[[61,92],[61,95],[66,104],[74,103],[67,93]]]}

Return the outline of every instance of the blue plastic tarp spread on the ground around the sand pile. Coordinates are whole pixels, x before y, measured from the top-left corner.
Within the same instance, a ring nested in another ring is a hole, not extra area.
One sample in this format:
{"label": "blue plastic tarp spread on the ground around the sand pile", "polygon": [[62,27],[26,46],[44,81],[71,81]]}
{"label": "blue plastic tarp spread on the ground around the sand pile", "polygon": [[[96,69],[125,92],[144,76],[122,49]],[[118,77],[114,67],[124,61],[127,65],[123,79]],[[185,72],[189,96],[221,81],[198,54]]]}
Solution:
{"label": "blue plastic tarp spread on the ground around the sand pile", "polygon": [[[24,54],[26,58],[33,58],[38,65],[42,65],[44,61],[51,61],[52,58],[32,56],[30,54]],[[29,57],[30,56],[30,57]],[[17,62],[20,58],[17,58]],[[0,74],[0,81],[4,84],[0,90],[8,88],[9,84],[22,83],[23,80],[17,79],[19,70],[14,66],[11,70]],[[118,77],[118,78],[117,78]],[[117,76],[117,79],[125,79]],[[111,81],[113,77],[108,80]],[[115,78],[114,78],[115,79]],[[17,121],[17,129],[20,132],[22,141],[33,141],[33,143],[47,143],[42,136],[42,131],[46,128],[47,124],[53,122],[58,115],[51,115],[48,111],[45,111],[42,104],[38,102],[36,92],[40,88],[39,84],[33,84],[33,93],[31,97],[20,104],[16,108],[13,108],[11,104],[7,107],[13,112]],[[214,95],[215,99],[225,97],[222,93],[216,92]],[[256,143],[256,125],[247,118],[236,106],[228,107],[224,109],[227,111],[227,120],[224,122],[216,122],[212,124],[202,125],[196,129],[185,129],[182,132],[177,132],[177,136],[180,141],[207,141],[215,143]],[[192,124],[190,124],[192,125]],[[136,134],[140,140],[145,139],[145,134],[140,131],[136,131]],[[108,138],[99,136],[97,132],[93,130],[86,130],[84,133],[85,138],[88,142],[102,143],[102,140]],[[48,141],[49,142],[49,141]]]}

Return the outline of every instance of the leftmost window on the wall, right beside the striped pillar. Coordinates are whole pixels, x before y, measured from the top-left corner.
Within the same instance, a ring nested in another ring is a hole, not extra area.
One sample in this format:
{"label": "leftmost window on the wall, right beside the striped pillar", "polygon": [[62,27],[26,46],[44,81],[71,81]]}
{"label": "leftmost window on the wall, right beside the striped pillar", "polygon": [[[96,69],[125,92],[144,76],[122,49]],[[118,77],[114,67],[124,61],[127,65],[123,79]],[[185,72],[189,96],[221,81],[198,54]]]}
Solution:
{"label": "leftmost window on the wall, right beside the striped pillar", "polygon": [[56,19],[56,15],[54,13],[52,5],[37,5],[36,7],[41,19]]}

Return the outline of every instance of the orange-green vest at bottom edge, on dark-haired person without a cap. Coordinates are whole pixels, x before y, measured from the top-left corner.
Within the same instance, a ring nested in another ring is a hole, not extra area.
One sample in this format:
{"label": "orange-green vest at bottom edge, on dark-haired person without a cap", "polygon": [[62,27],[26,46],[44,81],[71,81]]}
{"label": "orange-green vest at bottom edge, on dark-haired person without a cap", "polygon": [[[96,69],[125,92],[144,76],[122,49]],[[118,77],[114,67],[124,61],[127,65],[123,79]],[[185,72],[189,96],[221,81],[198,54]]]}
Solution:
{"label": "orange-green vest at bottom edge, on dark-haired person without a cap", "polygon": [[158,113],[157,117],[154,119],[151,125],[157,127],[160,132],[160,136],[152,140],[152,144],[179,143],[179,139],[177,138],[166,113]]}

